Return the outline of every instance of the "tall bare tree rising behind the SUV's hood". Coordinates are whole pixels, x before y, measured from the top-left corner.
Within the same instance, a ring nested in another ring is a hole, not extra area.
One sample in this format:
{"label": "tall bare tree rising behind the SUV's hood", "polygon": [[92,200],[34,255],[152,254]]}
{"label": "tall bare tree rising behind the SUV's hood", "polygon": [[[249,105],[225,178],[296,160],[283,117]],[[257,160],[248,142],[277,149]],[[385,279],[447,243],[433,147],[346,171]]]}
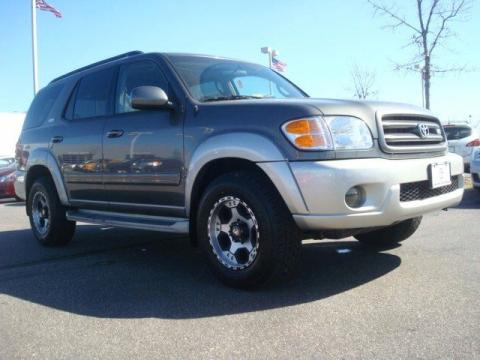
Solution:
{"label": "tall bare tree rising behind the SUV's hood", "polygon": [[459,68],[440,68],[433,65],[432,55],[445,40],[455,35],[453,22],[469,13],[471,0],[414,0],[416,19],[408,19],[395,5],[386,5],[381,0],[368,0],[376,13],[392,21],[388,27],[410,31],[408,46],[417,46],[418,53],[407,63],[397,64],[397,69],[420,71],[423,76],[425,106],[430,109],[430,85],[433,73],[462,71]]}

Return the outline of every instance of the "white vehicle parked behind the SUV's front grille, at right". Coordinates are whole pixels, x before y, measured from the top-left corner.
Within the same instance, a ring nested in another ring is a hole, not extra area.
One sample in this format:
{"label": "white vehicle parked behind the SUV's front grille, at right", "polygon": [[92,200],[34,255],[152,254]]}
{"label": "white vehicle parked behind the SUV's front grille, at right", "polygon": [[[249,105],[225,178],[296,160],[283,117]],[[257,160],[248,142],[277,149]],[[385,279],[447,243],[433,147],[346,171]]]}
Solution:
{"label": "white vehicle parked behind the SUV's front grille, at right", "polygon": [[480,147],[478,131],[468,124],[444,125],[443,129],[447,135],[448,150],[463,157],[465,171],[468,172],[473,149]]}

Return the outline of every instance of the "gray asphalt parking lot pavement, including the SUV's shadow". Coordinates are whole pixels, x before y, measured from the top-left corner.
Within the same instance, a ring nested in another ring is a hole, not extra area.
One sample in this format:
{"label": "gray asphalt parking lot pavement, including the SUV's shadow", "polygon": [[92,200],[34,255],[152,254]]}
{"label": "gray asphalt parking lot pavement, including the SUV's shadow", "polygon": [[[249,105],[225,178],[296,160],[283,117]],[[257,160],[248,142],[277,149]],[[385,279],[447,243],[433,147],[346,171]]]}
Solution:
{"label": "gray asphalt parking lot pavement, including the SUV's shadow", "polygon": [[188,239],[80,225],[42,248],[0,204],[0,358],[480,358],[480,192],[401,246],[310,241],[296,281],[221,285]]}

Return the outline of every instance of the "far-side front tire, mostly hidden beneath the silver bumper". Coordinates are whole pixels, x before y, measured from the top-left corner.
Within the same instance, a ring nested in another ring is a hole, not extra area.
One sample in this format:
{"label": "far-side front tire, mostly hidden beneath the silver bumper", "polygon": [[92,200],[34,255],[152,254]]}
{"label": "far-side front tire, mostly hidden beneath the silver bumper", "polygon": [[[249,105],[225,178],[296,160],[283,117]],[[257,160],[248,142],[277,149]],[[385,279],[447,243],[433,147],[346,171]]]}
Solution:
{"label": "far-side front tire, mostly hidden beneath the silver bumper", "polygon": [[369,246],[386,246],[408,239],[417,231],[422,217],[402,221],[382,229],[355,235],[355,239]]}

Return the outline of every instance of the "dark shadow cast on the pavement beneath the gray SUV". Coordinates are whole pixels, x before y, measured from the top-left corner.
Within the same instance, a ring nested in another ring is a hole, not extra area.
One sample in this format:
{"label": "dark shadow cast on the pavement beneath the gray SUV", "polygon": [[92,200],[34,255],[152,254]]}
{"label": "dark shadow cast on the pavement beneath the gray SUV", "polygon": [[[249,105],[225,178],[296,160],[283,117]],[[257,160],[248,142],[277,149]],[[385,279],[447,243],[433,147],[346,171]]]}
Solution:
{"label": "dark shadow cast on the pavement beneath the gray SUV", "polygon": [[0,293],[101,318],[202,318],[297,305],[368,283],[401,263],[355,241],[311,243],[294,281],[247,292],[219,283],[186,238],[80,226],[69,246],[45,249],[29,230],[0,235]]}

